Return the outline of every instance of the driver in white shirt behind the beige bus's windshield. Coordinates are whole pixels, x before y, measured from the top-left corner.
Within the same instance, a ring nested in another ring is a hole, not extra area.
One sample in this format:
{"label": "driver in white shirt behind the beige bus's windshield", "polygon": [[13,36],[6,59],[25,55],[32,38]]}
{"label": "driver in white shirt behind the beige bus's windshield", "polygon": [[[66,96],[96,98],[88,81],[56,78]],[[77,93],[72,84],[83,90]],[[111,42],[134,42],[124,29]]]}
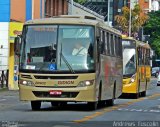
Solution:
{"label": "driver in white shirt behind the beige bus's windshield", "polygon": [[80,43],[76,43],[72,51],[72,55],[74,56],[87,55],[87,49],[83,47]]}

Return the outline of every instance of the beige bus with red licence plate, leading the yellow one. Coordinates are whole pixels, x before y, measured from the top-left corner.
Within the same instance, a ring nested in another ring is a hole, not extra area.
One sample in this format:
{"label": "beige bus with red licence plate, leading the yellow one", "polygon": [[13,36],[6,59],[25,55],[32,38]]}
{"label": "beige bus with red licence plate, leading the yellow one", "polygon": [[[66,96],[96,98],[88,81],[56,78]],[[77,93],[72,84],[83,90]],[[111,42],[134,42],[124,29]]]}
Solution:
{"label": "beige bus with red licence plate, leading the yellow one", "polygon": [[15,39],[20,100],[52,106],[67,102],[113,105],[122,93],[122,36],[89,16],[27,21]]}

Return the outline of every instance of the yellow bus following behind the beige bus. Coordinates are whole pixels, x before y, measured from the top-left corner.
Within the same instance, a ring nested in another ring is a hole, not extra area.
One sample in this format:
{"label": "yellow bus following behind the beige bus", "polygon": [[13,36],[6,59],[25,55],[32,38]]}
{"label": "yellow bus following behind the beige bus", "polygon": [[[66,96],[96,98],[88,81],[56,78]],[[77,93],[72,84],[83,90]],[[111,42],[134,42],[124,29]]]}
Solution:
{"label": "yellow bus following behind the beige bus", "polygon": [[123,37],[123,90],[135,98],[146,96],[150,84],[151,66],[149,44]]}

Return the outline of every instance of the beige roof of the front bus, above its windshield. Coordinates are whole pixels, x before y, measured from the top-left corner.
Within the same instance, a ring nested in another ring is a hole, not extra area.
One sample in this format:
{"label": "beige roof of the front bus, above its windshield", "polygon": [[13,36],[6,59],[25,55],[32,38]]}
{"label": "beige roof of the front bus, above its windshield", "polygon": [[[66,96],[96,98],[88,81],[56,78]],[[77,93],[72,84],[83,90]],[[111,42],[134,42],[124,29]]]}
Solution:
{"label": "beige roof of the front bus, above its windshield", "polygon": [[78,25],[93,25],[99,26],[113,33],[117,33],[121,35],[121,33],[108,26],[103,20],[97,19],[93,16],[86,16],[86,15],[59,15],[54,16],[51,18],[42,18],[42,19],[34,19],[25,22],[25,25],[32,25],[32,24],[78,24]]}

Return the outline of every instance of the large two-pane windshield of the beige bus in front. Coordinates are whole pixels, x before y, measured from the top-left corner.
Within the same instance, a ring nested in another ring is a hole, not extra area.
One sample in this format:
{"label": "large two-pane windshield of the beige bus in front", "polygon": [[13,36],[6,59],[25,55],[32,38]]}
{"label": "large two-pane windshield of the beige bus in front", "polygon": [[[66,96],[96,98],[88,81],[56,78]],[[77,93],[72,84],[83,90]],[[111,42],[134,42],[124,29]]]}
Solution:
{"label": "large two-pane windshield of the beige bus in front", "polygon": [[28,25],[22,35],[20,69],[94,71],[94,27]]}

